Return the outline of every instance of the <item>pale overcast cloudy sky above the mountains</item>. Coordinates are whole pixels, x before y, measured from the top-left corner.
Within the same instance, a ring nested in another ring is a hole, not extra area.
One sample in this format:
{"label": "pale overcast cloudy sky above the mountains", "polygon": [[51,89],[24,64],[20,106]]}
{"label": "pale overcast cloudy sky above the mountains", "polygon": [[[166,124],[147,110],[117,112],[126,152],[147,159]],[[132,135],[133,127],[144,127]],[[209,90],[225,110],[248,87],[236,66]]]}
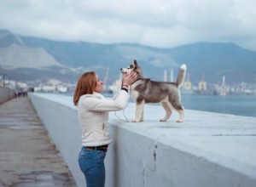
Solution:
{"label": "pale overcast cloudy sky above the mountains", "polygon": [[255,7],[255,0],[0,0],[0,29],[158,48],[234,42],[256,51]]}

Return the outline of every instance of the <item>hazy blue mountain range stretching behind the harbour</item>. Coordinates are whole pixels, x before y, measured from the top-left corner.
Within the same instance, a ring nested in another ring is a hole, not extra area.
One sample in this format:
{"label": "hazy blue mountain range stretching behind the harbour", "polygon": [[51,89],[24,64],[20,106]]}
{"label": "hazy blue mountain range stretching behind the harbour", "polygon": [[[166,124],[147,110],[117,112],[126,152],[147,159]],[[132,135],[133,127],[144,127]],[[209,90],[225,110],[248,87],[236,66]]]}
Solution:
{"label": "hazy blue mountain range stretching behind the harbour", "polygon": [[29,83],[57,79],[76,82],[84,71],[96,71],[111,84],[119,70],[133,59],[143,68],[144,77],[163,81],[164,71],[186,64],[189,80],[195,84],[204,77],[212,83],[256,82],[256,52],[235,43],[196,42],[176,48],[153,48],[137,43],[102,44],[53,41],[20,36],[0,30],[0,76]]}

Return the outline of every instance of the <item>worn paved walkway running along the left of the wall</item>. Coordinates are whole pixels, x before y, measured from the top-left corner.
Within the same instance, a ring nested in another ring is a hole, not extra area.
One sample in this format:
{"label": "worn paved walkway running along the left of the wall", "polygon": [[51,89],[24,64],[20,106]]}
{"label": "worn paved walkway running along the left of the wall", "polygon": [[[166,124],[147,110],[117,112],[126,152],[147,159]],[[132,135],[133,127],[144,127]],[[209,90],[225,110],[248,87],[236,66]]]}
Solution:
{"label": "worn paved walkway running along the left of the wall", "polygon": [[0,105],[0,186],[76,186],[28,97]]}

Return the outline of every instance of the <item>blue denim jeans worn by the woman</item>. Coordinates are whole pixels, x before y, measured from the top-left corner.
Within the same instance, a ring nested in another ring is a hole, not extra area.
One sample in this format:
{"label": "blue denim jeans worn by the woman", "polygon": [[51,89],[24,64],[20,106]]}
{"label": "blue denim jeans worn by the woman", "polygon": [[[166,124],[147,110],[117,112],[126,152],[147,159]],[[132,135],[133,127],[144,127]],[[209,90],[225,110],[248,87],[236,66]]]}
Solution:
{"label": "blue denim jeans worn by the woman", "polygon": [[106,152],[102,150],[86,150],[85,147],[79,153],[79,167],[84,173],[86,187],[104,187]]}

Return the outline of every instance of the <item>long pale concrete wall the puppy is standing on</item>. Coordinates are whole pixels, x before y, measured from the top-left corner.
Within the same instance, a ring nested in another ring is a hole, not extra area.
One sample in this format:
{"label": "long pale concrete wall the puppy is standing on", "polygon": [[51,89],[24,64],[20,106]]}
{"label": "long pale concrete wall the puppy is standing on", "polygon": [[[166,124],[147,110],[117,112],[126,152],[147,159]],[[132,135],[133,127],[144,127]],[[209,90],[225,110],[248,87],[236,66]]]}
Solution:
{"label": "long pale concrete wall the puppy is standing on", "polygon": [[[72,97],[30,94],[38,116],[78,186],[81,130]],[[163,111],[146,105],[144,122],[124,122],[135,105],[111,112],[113,143],[105,160],[106,187],[256,186],[256,118],[186,111],[185,122],[159,122]],[[125,116],[124,116],[125,115]]]}

